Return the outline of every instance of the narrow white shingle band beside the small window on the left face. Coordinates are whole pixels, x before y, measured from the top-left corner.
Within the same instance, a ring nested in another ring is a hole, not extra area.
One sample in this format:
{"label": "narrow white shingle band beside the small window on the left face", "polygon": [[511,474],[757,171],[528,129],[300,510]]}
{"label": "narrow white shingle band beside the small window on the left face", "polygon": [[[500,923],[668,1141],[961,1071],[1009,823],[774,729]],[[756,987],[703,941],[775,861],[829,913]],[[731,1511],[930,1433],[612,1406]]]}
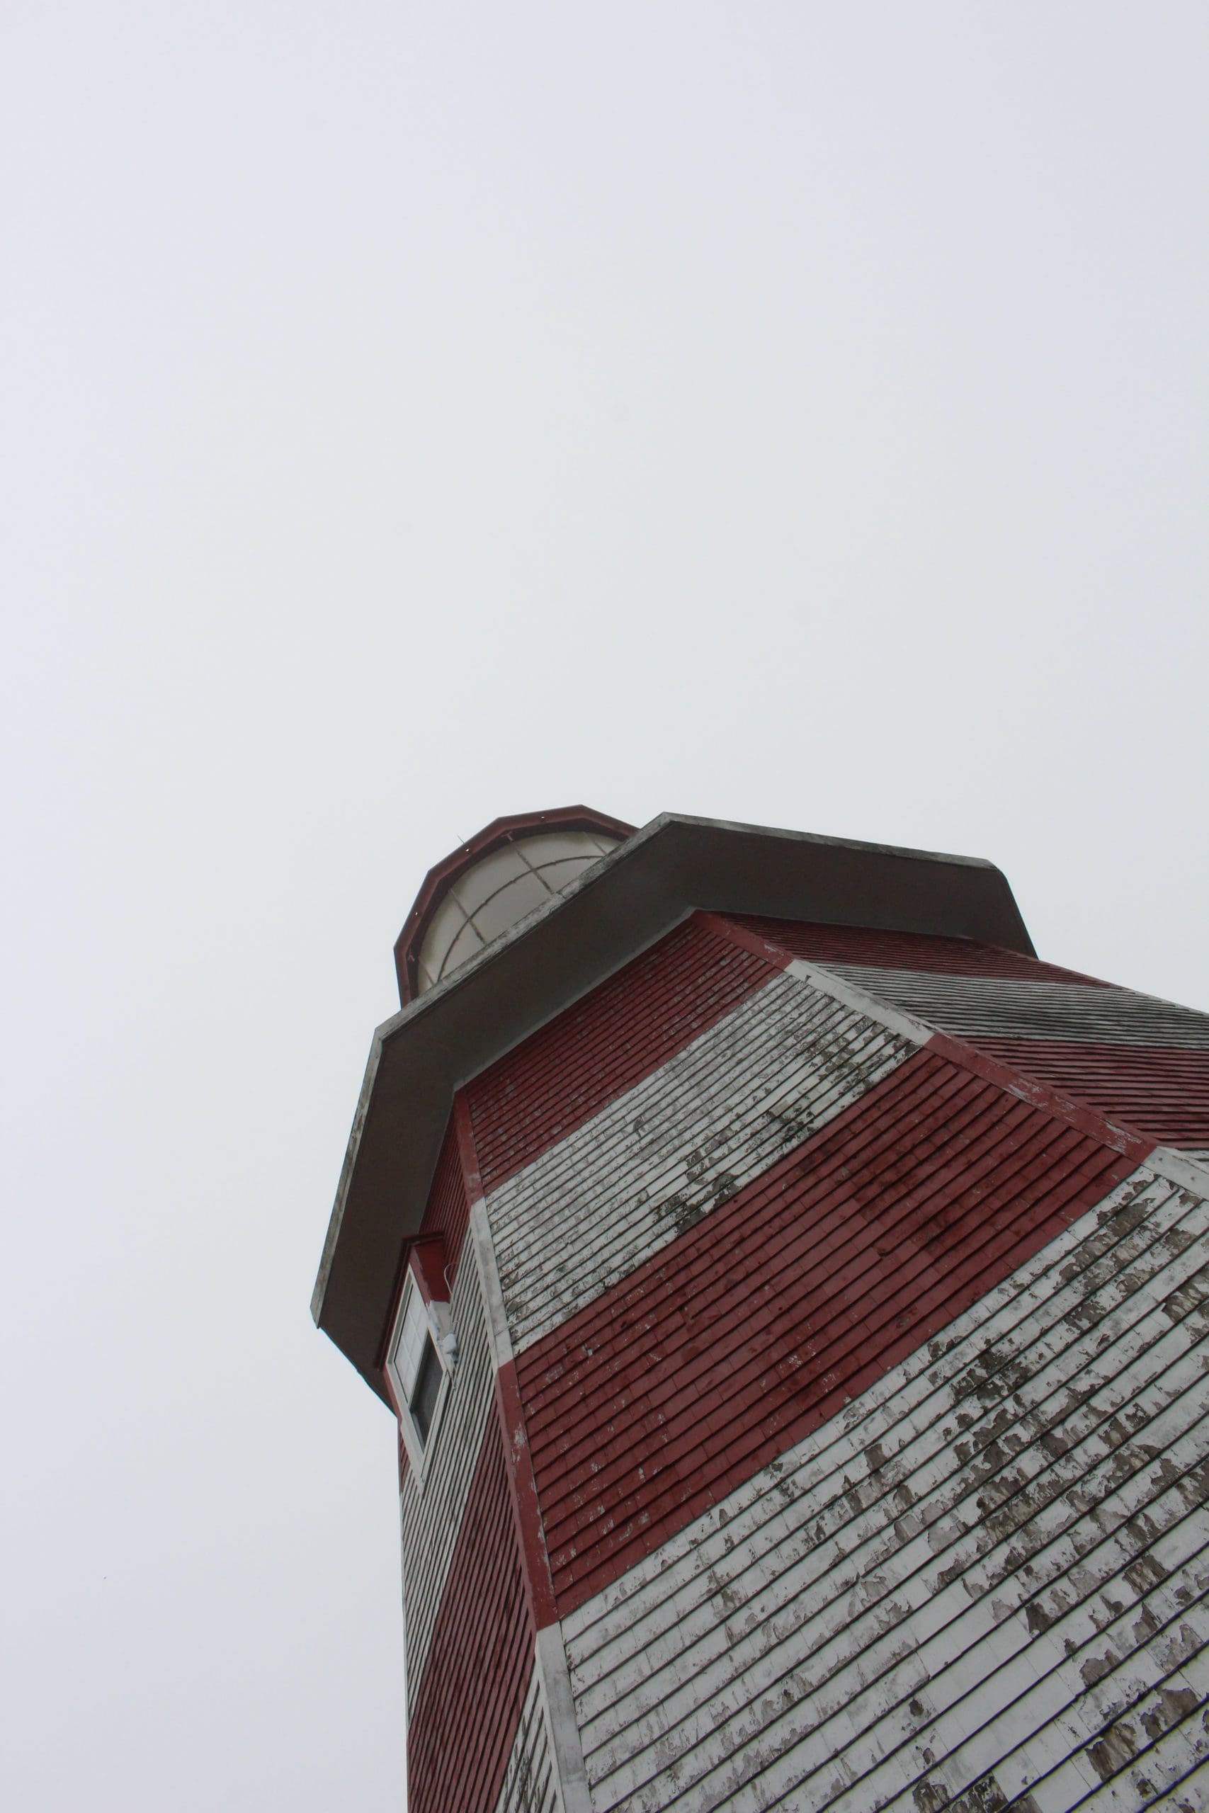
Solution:
{"label": "narrow white shingle band beside the small window on the left face", "polygon": [[459,1267],[450,1316],[459,1345],[457,1371],[450,1382],[440,1421],[430,1438],[431,1454],[424,1483],[421,1485],[408,1469],[399,1505],[408,1704],[415,1702],[424,1673],[437,1606],[491,1405],[495,1371],[488,1352],[479,1267],[473,1260]]}

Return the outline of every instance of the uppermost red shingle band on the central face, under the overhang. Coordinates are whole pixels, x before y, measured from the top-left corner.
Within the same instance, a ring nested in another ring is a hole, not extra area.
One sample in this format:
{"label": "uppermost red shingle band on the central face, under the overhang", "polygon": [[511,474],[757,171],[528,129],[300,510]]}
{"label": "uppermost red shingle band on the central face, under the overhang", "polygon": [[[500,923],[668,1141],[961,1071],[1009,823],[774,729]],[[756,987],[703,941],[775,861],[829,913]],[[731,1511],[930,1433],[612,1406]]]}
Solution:
{"label": "uppermost red shingle band on the central face, under the overhang", "polygon": [[776,968],[676,926],[466,1090],[484,1191],[531,1164],[720,1021]]}

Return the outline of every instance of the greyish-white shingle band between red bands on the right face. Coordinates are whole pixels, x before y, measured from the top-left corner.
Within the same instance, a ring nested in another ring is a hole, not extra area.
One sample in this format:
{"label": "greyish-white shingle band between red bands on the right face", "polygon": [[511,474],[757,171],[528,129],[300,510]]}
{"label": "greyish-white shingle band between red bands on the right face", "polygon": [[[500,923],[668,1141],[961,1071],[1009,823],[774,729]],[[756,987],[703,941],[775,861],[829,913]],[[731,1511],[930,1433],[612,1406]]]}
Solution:
{"label": "greyish-white shingle band between red bands on the right face", "polygon": [[1209,1013],[1136,995],[1127,988],[937,975],[856,963],[828,963],[825,968],[959,1039],[1059,1039],[1075,1044],[1209,1050]]}

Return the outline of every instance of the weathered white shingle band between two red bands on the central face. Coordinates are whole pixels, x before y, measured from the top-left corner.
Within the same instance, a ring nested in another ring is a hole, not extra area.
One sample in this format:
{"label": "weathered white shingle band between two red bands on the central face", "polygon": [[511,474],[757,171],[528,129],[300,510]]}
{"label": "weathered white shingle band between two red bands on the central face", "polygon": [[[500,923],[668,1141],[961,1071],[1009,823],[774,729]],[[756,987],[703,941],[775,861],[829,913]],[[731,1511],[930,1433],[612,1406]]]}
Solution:
{"label": "weathered white shingle band between two red bands on the central face", "polygon": [[759,1177],[914,1050],[808,983],[778,975],[509,1177],[486,1207],[515,1351]]}

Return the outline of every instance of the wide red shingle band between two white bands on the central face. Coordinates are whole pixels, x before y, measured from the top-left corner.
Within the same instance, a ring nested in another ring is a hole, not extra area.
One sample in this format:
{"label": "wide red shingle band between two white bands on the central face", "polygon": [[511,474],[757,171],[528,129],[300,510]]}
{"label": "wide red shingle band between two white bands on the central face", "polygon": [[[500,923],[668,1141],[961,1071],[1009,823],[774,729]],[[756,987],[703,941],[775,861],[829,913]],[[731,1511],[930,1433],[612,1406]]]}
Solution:
{"label": "wide red shingle band between two white bands on the central face", "polygon": [[518,1360],[558,1612],[725,1498],[1138,1162],[921,1052]]}

